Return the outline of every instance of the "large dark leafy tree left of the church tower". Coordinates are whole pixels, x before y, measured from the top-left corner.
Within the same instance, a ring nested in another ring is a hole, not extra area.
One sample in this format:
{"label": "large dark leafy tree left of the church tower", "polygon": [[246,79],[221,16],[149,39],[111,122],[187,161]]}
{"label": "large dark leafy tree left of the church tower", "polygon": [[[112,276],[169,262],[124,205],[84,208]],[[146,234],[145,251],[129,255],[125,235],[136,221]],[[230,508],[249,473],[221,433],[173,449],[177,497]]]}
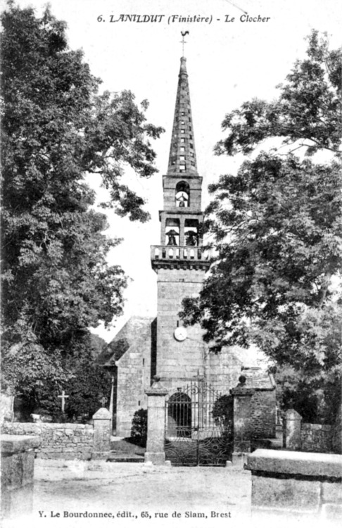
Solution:
{"label": "large dark leafy tree left of the church tower", "polygon": [[126,277],[106,256],[119,239],[103,231],[85,175],[101,177],[105,205],[148,220],[144,200],[125,184],[125,167],[156,172],[146,122],[131,92],[99,94],[82,51],[68,47],[65,23],[13,2],[1,15],[4,97],[2,367],[14,390],[35,394],[65,384],[75,350],[89,348],[90,326],[122,311]]}

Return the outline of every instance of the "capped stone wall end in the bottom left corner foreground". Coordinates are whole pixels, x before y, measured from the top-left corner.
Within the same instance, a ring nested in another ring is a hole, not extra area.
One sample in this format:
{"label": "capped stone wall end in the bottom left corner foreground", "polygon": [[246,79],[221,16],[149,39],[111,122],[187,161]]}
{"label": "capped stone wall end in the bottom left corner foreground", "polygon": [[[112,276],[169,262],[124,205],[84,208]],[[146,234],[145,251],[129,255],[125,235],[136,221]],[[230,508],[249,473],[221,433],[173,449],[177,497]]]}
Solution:
{"label": "capped stone wall end in the bottom left corner foreground", "polygon": [[34,448],[39,436],[1,434],[1,515],[30,515],[33,504]]}

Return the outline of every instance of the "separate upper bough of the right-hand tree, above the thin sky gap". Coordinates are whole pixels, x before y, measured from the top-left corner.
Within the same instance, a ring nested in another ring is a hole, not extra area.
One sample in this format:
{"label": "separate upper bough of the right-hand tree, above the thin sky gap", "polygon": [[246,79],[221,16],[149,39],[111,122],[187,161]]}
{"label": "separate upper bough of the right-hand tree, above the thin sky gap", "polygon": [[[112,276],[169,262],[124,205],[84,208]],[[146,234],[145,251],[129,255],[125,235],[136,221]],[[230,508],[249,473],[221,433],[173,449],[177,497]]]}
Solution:
{"label": "separate upper bough of the right-hand tree, above the thin sky gap", "polygon": [[320,149],[341,154],[341,49],[329,51],[327,37],[315,30],[308,42],[306,58],[279,84],[277,99],[252,99],[225,116],[222,128],[229,134],[217,143],[218,154],[248,154],[270,137],[308,155]]}

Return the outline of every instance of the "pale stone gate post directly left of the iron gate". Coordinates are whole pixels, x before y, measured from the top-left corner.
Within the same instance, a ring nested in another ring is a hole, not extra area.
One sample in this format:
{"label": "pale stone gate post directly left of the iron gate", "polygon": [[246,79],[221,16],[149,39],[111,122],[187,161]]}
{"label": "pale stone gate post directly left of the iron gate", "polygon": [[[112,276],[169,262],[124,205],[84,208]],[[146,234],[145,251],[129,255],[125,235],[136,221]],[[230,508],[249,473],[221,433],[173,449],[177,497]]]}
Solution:
{"label": "pale stone gate post directly left of the iron gate", "polygon": [[160,383],[160,377],[154,376],[147,394],[147,445],[145,463],[165,464],[165,396],[167,389]]}

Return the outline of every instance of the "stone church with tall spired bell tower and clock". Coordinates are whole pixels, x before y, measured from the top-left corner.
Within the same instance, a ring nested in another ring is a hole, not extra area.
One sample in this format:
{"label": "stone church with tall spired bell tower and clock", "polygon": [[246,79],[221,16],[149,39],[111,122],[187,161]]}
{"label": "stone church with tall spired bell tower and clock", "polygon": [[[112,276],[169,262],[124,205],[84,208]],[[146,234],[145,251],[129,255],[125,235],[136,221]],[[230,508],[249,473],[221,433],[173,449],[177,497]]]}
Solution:
{"label": "stone church with tall spired bell tower and clock", "polygon": [[158,375],[172,399],[183,394],[182,387],[196,383],[205,383],[216,394],[229,394],[241,374],[255,389],[252,403],[256,428],[259,424],[262,429],[259,436],[274,435],[275,385],[262,353],[239,346],[213,353],[202,339],[200,325],[184,327],[179,319],[182,298],[199,294],[210,268],[210,255],[203,248],[201,234],[202,185],[186,58],[182,56],[170,155],[163,176],[160,242],[151,246],[151,265],[158,284],[157,315],[131,318],[101,354],[102,365],[115,367],[116,371],[118,436],[130,436],[134,413],[147,408],[145,391],[153,376]]}

